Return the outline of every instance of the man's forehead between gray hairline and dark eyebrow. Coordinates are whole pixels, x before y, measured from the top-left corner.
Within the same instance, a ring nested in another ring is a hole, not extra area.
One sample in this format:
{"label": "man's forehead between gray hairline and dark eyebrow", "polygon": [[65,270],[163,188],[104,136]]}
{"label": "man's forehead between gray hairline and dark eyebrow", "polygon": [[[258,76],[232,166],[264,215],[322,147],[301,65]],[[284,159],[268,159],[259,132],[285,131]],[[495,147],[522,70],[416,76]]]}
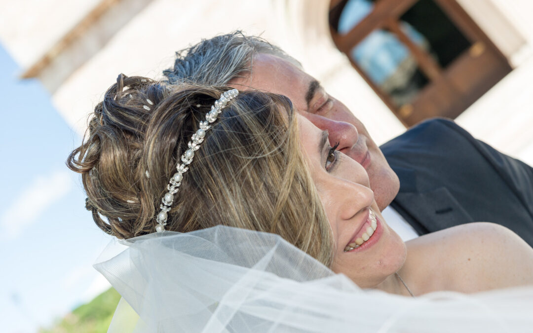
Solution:
{"label": "man's forehead between gray hairline and dark eyebrow", "polygon": [[239,90],[258,89],[285,95],[298,110],[305,111],[320,84],[288,60],[260,53],[252,59],[252,71],[231,80],[230,86]]}

